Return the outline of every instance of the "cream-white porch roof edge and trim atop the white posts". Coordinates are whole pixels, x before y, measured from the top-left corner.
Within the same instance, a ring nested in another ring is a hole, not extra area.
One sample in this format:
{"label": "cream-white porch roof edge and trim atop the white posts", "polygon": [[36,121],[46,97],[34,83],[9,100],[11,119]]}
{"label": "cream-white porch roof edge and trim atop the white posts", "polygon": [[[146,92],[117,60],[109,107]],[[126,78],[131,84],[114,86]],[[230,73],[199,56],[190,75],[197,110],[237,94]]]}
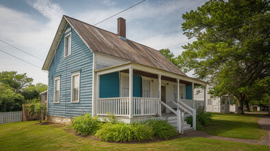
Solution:
{"label": "cream-white porch roof edge and trim atop the white posts", "polygon": [[162,80],[173,81],[175,83],[176,83],[176,79],[180,79],[180,83],[196,83],[199,85],[207,84],[206,82],[195,79],[195,78],[186,77],[182,74],[175,74],[174,72],[161,70],[160,68],[145,66],[143,64],[138,64],[133,61],[129,61],[125,64],[119,64],[116,66],[110,66],[108,68],[95,70],[95,72],[97,72],[97,75],[102,75],[102,74],[108,74],[108,73],[117,72],[117,71],[125,72],[125,70],[128,70],[129,68],[134,69],[134,74],[139,74],[139,75],[143,75],[145,77],[151,77],[154,79],[157,79],[158,78],[157,75],[160,74],[163,77]]}

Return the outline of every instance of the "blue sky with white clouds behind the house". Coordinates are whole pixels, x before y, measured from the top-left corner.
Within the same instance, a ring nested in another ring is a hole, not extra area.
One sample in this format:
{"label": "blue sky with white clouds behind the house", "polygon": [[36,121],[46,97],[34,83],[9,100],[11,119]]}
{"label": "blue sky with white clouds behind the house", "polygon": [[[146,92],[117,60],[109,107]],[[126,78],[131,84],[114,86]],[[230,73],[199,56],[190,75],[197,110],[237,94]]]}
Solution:
{"label": "blue sky with white clouds behind the house", "polygon": [[[25,63],[0,51],[0,72],[27,73],[34,84],[47,84],[47,72],[41,68],[47,57],[62,15],[71,16],[95,25],[142,0],[1,0],[0,40],[21,49],[27,55],[0,41],[0,50],[28,61]],[[197,10],[205,0],[146,0],[103,23],[96,25],[116,33],[117,18],[126,20],[127,39],[150,46],[156,50],[166,49],[180,55],[188,38],[182,31],[182,14]],[[180,44],[183,43],[183,44]],[[180,44],[173,46],[175,44]],[[37,67],[38,66],[38,67]],[[187,73],[193,77],[192,72]]]}

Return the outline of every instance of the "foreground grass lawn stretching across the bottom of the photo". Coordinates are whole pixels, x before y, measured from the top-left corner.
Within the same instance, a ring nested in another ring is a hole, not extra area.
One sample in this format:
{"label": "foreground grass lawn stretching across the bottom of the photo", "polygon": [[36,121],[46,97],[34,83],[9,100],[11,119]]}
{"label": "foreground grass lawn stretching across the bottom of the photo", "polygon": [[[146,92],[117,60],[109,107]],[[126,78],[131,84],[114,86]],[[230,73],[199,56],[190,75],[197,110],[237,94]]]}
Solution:
{"label": "foreground grass lawn stretching across the bottom of the photo", "polygon": [[0,124],[0,150],[269,150],[269,146],[200,137],[155,143],[108,143],[66,133],[67,126],[37,121]]}

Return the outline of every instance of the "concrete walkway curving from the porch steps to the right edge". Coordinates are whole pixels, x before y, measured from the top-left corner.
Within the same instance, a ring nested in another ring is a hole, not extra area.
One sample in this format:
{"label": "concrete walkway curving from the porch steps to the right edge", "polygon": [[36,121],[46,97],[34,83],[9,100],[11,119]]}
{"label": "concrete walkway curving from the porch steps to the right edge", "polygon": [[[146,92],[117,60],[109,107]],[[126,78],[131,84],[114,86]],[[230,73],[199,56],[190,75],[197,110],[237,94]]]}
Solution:
{"label": "concrete walkway curving from the porch steps to the right edge", "polygon": [[[265,146],[270,146],[269,142],[269,136],[270,136],[270,116],[262,116],[258,120],[258,124],[260,124],[261,128],[265,129],[267,131],[268,135],[264,137],[263,139],[236,139],[236,138],[230,138],[230,137],[219,137],[215,135],[209,135],[207,133],[204,133],[203,131],[194,131],[194,130],[188,130],[184,131],[183,137],[204,137],[208,139],[219,139],[223,141],[236,141],[241,143],[255,143]],[[251,132],[252,133],[252,132]]]}

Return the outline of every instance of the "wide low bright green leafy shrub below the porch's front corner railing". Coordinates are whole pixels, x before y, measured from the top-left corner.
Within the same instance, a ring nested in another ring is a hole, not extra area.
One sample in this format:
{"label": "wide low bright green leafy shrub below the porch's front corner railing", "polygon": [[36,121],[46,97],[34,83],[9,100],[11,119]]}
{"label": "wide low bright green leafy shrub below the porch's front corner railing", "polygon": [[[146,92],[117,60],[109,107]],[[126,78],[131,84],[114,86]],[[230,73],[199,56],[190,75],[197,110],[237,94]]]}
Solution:
{"label": "wide low bright green leafy shrub below the porch's front corner railing", "polygon": [[95,136],[103,141],[144,141],[152,139],[153,132],[147,124],[125,124],[123,122],[112,124],[108,122],[103,124]]}

